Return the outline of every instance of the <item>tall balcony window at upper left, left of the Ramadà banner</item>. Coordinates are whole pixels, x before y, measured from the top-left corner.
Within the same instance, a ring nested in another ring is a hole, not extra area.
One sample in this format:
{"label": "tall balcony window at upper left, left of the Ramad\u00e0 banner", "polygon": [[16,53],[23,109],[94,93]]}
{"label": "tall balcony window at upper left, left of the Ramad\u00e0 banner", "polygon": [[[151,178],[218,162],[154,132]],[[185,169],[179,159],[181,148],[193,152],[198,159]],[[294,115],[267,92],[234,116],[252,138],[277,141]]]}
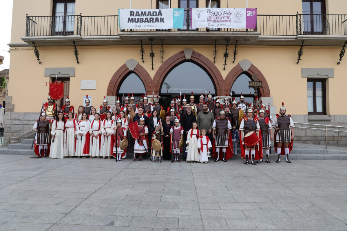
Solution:
{"label": "tall balcony window at upper left, left of the Ramad\u00e0 banner", "polygon": [[71,35],[75,29],[75,1],[53,1],[53,32],[56,35]]}

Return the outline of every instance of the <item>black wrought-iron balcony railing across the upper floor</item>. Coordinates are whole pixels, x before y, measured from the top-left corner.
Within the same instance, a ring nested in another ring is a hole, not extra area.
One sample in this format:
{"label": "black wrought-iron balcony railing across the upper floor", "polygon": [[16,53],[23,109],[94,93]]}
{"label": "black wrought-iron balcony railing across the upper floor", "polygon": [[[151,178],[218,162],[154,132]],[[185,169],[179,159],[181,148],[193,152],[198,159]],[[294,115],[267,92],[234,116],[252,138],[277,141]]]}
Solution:
{"label": "black wrought-iron balcony railing across the upper floor", "polygon": [[108,16],[27,16],[25,36],[112,36],[121,32],[259,32],[261,35],[347,35],[347,15],[257,15],[255,29],[191,27],[190,10],[185,9],[183,28],[179,29],[125,29],[120,30],[118,15]]}

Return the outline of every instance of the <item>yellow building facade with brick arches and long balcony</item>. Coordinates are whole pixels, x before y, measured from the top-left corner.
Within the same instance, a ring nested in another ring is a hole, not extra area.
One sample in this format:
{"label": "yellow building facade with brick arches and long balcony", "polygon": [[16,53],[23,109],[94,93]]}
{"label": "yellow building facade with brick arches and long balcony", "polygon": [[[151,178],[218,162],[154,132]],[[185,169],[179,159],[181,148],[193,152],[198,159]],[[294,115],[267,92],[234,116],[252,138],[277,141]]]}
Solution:
{"label": "yellow building facade with brick arches and long balcony", "polygon": [[[169,7],[168,2],[170,8],[209,7],[209,0],[190,1],[191,6],[183,0],[132,0],[132,8]],[[65,4],[64,9],[61,3]],[[58,81],[68,82],[64,94],[72,105],[77,108],[83,104],[83,97],[89,95],[92,105],[98,107],[104,96],[112,105],[123,93],[134,93],[121,92],[127,77],[134,74],[141,80],[136,84],[142,82],[148,95],[154,92],[162,99],[177,97],[178,88],[171,94],[169,89],[162,93],[168,88],[164,82],[169,74],[183,63],[202,69],[214,88],[205,90],[213,91],[217,97],[230,96],[233,91],[232,97],[238,101],[240,92],[233,88],[234,83],[240,76],[252,81],[257,74],[263,84],[257,93],[266,107],[270,105],[273,116],[284,102],[287,114],[293,115],[295,122],[347,124],[347,108],[341,106],[347,85],[347,58],[339,60],[347,41],[347,1],[248,0],[247,8],[257,8],[256,29],[191,29],[187,20],[182,29],[120,30],[118,9],[130,8],[129,3],[76,0],[72,6],[67,1],[14,0],[5,136],[32,129],[31,123],[48,96],[45,82],[54,80],[56,75]],[[246,8],[246,0],[212,1],[212,6]],[[185,12],[189,18],[189,11]],[[58,17],[62,21],[57,23]],[[201,82],[198,74],[185,78]],[[84,83],[88,83],[89,89],[81,89]],[[193,90],[191,83],[187,85],[180,80],[186,98],[191,95],[188,89]],[[205,95],[201,89],[197,88],[194,94]],[[253,92],[243,94],[251,98]],[[140,93],[135,92],[144,94]],[[19,120],[26,122],[18,124]],[[328,135],[330,145],[347,146],[346,134]],[[297,142],[322,144],[325,132],[298,128],[296,136]]]}

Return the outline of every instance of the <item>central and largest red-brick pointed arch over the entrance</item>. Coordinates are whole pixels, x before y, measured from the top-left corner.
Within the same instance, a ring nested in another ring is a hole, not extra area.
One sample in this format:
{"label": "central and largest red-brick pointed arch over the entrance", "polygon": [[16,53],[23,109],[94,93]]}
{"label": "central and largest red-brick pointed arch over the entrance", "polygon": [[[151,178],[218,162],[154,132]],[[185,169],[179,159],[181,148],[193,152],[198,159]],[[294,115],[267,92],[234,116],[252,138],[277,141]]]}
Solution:
{"label": "central and largest red-brick pointed arch over the entrance", "polygon": [[[153,90],[155,95],[160,94],[160,86],[162,85],[162,82],[166,78],[167,74],[175,68],[177,65],[186,62],[186,56],[183,51],[178,52],[174,55],[172,55],[169,59],[167,59],[161,66],[159,67],[158,71],[156,71],[154,78],[153,78]],[[212,82],[214,86],[216,87],[216,94],[221,95],[223,89],[221,88],[223,77],[220,71],[218,70],[217,66],[214,65],[213,62],[211,62],[207,57],[204,55],[193,51],[192,56],[190,58],[190,62],[193,62],[199,66],[201,66],[209,75],[212,77]],[[159,87],[158,87],[159,86]],[[151,90],[152,91],[152,90]]]}

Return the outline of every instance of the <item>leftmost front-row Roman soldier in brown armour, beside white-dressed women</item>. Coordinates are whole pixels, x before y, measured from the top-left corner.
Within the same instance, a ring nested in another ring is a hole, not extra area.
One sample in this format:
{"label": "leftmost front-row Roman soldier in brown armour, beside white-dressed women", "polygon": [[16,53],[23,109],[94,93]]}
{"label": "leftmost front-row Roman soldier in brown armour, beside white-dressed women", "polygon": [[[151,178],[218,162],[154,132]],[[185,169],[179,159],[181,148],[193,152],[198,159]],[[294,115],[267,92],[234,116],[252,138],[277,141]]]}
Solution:
{"label": "leftmost front-row Roman soldier in brown armour, beside white-dressed women", "polygon": [[[44,113],[41,116],[45,116]],[[36,129],[35,135],[35,153],[37,158],[48,157],[51,141],[51,121],[47,119],[38,119],[34,124],[33,129]]]}

